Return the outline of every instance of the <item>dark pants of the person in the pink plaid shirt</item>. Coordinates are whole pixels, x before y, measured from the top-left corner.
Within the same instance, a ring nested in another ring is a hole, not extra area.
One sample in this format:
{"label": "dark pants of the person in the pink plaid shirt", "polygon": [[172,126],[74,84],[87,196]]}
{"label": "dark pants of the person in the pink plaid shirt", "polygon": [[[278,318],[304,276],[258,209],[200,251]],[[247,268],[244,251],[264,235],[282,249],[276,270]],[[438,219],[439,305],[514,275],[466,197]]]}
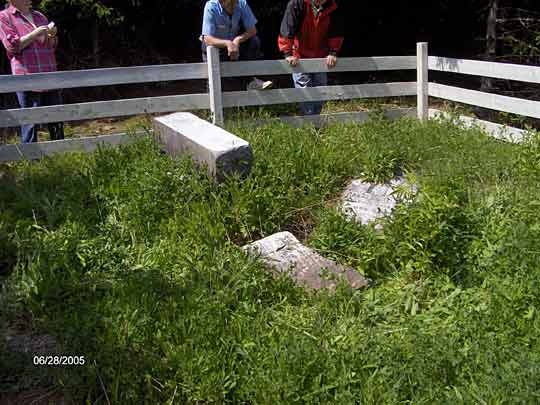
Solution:
{"label": "dark pants of the person in the pink plaid shirt", "polygon": [[[58,90],[35,92],[35,91],[20,91],[17,92],[19,105],[21,108],[45,107],[48,105],[62,104],[62,95]],[[37,142],[37,125],[25,124],[21,126],[21,142],[32,143]],[[64,139],[64,124],[55,122],[47,124],[51,140]]]}

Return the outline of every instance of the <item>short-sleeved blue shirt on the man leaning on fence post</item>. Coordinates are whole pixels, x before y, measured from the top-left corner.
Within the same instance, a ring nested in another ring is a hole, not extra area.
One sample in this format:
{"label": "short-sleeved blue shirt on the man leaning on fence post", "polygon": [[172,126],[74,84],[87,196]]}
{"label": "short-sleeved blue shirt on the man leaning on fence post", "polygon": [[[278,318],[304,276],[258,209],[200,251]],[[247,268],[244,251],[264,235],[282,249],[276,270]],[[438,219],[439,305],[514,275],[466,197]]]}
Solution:
{"label": "short-sleeved blue shirt on the man leaning on fence post", "polygon": [[240,22],[249,31],[257,24],[257,19],[246,0],[238,0],[232,16],[229,16],[219,0],[208,0],[204,6],[202,35],[232,41],[241,34]]}

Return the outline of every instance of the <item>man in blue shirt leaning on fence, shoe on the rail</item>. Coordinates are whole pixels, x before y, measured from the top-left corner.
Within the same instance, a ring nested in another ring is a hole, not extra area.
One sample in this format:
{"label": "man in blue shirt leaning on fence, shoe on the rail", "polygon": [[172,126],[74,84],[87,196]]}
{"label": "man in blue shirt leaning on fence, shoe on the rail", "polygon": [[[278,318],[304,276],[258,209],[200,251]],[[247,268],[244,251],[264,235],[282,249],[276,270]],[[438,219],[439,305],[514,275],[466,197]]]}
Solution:
{"label": "man in blue shirt leaning on fence, shoe on the rail", "polygon": [[[257,60],[261,58],[261,41],[257,36],[257,18],[246,0],[208,0],[202,25],[202,57],[206,47],[220,48],[221,60]],[[263,90],[272,82],[253,78],[248,89]]]}

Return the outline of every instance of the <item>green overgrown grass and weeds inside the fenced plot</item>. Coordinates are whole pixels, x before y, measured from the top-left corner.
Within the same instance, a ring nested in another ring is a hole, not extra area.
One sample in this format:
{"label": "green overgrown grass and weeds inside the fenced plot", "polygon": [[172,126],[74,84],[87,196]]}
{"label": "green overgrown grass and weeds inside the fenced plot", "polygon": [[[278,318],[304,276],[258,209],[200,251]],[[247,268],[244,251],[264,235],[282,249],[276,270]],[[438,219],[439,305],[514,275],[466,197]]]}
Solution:
{"label": "green overgrown grass and weeds inside the fenced plot", "polygon": [[[538,401],[538,138],[378,116],[231,130],[256,156],[243,182],[215,185],[150,140],[4,168],[0,335],[22,322],[87,364],[36,369],[1,338],[1,391],[47,383],[89,404],[104,392],[137,404]],[[339,214],[350,179],[402,171],[420,192],[384,232]],[[373,286],[307,292],[238,248],[282,230]]]}

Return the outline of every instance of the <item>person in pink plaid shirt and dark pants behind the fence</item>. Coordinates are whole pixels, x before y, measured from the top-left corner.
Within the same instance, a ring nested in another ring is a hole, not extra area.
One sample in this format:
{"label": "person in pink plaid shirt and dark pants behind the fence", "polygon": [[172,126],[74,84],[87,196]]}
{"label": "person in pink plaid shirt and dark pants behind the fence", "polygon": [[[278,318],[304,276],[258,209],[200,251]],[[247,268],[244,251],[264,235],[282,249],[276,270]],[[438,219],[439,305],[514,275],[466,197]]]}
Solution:
{"label": "person in pink plaid shirt and dark pants behind the fence", "polygon": [[[56,71],[54,55],[58,38],[57,29],[47,17],[32,9],[31,0],[9,0],[0,11],[0,40],[6,48],[14,75]],[[59,90],[17,92],[21,108],[62,104]],[[51,140],[64,139],[61,122],[48,124]],[[21,127],[23,143],[37,142],[37,126]]]}

